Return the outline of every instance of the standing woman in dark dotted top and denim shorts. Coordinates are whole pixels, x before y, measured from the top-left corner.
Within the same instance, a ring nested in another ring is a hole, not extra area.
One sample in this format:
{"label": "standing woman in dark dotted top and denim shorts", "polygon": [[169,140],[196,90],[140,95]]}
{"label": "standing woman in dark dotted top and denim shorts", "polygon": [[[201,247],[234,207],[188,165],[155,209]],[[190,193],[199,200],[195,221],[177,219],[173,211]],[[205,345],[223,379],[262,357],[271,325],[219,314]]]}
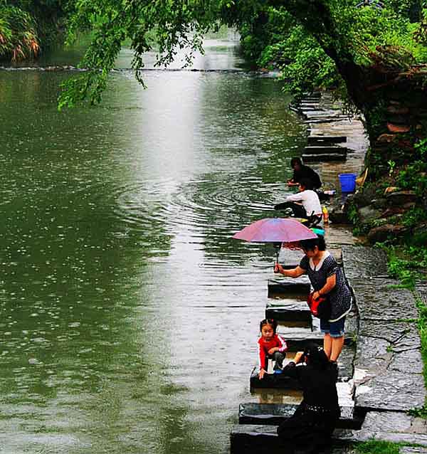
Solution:
{"label": "standing woman in dark dotted top and denim shorts", "polygon": [[320,329],[324,334],[323,349],[332,362],[336,362],[344,346],[344,322],[352,308],[352,293],[344,278],[342,268],[326,250],[325,238],[318,236],[300,241],[305,253],[300,265],[285,270],[282,265],[275,265],[275,272],[289,278],[298,278],[307,274],[315,292],[312,297],[327,297],[330,300],[331,315],[329,319],[320,319]]}

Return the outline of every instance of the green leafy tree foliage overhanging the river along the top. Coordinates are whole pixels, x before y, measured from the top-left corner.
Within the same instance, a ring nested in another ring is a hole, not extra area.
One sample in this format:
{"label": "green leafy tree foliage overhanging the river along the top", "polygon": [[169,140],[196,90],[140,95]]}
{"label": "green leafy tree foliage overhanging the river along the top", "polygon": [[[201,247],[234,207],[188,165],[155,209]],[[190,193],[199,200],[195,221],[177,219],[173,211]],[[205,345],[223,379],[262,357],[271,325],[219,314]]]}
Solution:
{"label": "green leafy tree foliage overhanging the river along the top", "polygon": [[[99,102],[123,42],[130,42],[135,51],[132,67],[142,82],[143,55],[153,50],[150,33],[158,43],[157,65],[170,63],[177,48],[188,49],[189,63],[194,51],[202,50],[203,34],[221,23],[238,28],[248,58],[258,65],[283,67],[288,89],[297,95],[314,87],[337,87],[346,93],[345,84],[354,88],[354,71],[362,77],[365,67],[402,70],[427,60],[427,46],[419,38],[423,33],[416,35],[423,28],[409,19],[413,2],[386,3],[384,9],[356,4],[357,0],[75,0],[69,38],[82,29],[92,31],[82,65],[93,71],[83,75],[87,80],[66,85],[60,105],[73,105],[85,96]],[[348,93],[355,105],[364,107],[354,90]]]}

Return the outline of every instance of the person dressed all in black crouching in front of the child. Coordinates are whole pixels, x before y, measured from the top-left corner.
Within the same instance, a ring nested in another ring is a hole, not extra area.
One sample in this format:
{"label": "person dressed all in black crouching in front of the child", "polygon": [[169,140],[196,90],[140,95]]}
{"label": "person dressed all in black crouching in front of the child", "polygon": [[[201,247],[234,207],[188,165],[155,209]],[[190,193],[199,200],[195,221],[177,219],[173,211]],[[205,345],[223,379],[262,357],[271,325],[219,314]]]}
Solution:
{"label": "person dressed all in black crouching in front of the child", "polygon": [[283,375],[297,379],[302,387],[302,402],[295,413],[278,427],[286,452],[304,450],[318,454],[330,445],[340,416],[337,394],[337,369],[325,351],[311,343],[283,368]]}

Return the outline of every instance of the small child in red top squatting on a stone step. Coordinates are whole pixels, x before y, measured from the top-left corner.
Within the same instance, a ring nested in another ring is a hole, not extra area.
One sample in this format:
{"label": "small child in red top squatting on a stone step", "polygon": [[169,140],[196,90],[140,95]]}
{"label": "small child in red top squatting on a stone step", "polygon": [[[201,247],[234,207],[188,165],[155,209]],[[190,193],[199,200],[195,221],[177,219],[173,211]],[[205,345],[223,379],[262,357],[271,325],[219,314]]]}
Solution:
{"label": "small child in red top squatting on a stone step", "polygon": [[279,373],[282,371],[283,359],[288,349],[285,340],[276,334],[278,322],[273,319],[264,319],[260,322],[261,337],[258,339],[258,353],[260,359],[260,372],[258,378],[263,379],[267,371],[268,359],[275,361],[274,370]]}

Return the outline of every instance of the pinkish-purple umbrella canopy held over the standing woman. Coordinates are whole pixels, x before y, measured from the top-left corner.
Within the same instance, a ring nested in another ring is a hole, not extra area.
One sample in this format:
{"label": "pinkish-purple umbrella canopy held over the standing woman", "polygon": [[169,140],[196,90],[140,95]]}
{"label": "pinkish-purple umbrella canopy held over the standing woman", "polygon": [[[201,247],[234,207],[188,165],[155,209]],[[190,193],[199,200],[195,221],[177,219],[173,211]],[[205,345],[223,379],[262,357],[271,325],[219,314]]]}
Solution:
{"label": "pinkish-purple umbrella canopy held over the standing woman", "polygon": [[242,228],[233,238],[252,243],[292,243],[317,238],[317,235],[292,218],[265,218]]}

